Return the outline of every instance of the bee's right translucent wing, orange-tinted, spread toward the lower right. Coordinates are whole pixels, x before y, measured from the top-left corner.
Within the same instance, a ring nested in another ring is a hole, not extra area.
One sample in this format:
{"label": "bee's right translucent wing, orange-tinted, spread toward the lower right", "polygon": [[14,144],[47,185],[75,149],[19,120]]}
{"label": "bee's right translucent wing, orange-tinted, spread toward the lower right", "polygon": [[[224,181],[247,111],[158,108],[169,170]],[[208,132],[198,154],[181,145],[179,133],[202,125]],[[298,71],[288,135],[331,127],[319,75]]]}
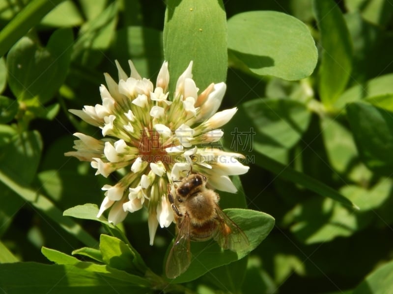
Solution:
{"label": "bee's right translucent wing, orange-tinted, spread toward the lower right", "polygon": [[238,251],[249,246],[249,239],[239,226],[232,221],[217,205],[216,212],[219,217],[219,227],[214,240],[223,247],[232,251]]}

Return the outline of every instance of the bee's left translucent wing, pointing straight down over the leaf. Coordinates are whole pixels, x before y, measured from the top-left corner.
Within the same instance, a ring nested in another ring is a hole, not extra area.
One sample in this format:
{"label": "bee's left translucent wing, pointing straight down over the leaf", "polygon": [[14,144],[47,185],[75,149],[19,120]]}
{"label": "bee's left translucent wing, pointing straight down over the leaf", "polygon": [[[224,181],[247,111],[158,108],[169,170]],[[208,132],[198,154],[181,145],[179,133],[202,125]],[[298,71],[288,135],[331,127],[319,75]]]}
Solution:
{"label": "bee's left translucent wing, pointing straight down over the leaf", "polygon": [[169,251],[165,271],[169,279],[174,279],[188,269],[190,255],[190,218],[183,217],[176,240]]}

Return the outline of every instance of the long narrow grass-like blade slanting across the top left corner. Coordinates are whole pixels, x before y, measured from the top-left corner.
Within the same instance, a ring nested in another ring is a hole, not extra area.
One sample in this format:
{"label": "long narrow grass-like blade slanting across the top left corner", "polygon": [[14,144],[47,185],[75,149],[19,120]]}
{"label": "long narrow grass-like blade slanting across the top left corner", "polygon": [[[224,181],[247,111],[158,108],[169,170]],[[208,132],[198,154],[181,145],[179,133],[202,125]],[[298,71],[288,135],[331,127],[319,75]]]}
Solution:
{"label": "long narrow grass-like blade slanting across the top left corner", "polygon": [[63,0],[32,0],[0,31],[0,56]]}

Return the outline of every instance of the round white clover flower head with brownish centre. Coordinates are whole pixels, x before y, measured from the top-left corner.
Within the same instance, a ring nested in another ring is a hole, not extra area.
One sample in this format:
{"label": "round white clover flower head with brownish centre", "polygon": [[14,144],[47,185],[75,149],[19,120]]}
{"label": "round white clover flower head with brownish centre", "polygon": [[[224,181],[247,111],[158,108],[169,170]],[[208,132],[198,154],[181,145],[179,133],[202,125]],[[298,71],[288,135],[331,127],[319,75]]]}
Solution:
{"label": "round white clover flower head with brownish centre", "polygon": [[99,88],[102,104],[70,110],[99,127],[103,138],[75,133],[79,138],[74,141],[76,151],[65,155],[90,161],[96,174],[105,177],[123,169],[119,173],[123,177],[115,185],[102,187],[105,198],[97,217],[110,209],[108,220],[116,224],[129,212],[147,208],[151,245],[158,225],[168,227],[174,221],[168,201],[168,185],[174,180],[192,170],[205,174],[212,188],[235,193],[229,175],[249,169],[239,162],[241,154],[211,147],[223,137],[219,128],[237,108],[216,113],[226,85],[212,83],[198,95],[192,65],[190,62],[178,77],[174,93],[169,93],[167,62],[154,87],[131,61],[130,75],[116,61],[119,82],[104,74],[107,87]]}

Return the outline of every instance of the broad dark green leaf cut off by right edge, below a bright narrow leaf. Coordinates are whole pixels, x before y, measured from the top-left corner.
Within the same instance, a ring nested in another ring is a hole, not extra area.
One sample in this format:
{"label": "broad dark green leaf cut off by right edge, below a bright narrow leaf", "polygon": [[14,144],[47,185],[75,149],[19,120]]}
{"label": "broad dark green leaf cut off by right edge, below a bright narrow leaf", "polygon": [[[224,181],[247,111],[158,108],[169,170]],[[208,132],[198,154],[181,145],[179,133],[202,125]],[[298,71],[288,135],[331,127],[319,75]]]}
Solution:
{"label": "broad dark green leaf cut off by right edge, below a bright narrow leaf", "polygon": [[351,103],[347,117],[365,165],[390,176],[393,168],[393,115],[368,103]]}

